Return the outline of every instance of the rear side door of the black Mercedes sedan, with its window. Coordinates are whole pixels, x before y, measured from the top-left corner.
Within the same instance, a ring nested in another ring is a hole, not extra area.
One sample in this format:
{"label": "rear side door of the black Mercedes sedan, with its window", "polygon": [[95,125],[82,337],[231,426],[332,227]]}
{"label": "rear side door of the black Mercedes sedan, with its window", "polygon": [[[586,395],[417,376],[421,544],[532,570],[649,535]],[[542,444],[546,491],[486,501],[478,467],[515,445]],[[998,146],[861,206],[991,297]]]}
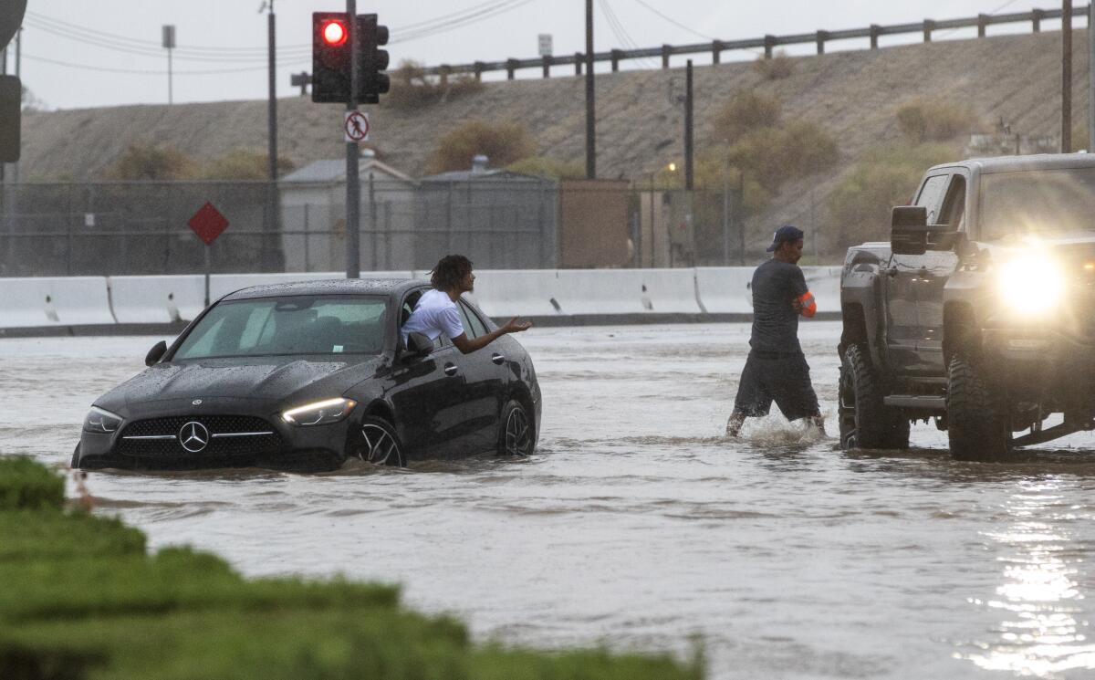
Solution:
{"label": "rear side door of the black Mercedes sedan, with its window", "polygon": [[[486,323],[463,299],[459,300],[460,318],[469,338],[488,333]],[[476,451],[494,448],[498,435],[502,400],[506,395],[506,357],[498,342],[464,355],[463,372],[468,389],[468,418],[473,430],[469,442]]]}

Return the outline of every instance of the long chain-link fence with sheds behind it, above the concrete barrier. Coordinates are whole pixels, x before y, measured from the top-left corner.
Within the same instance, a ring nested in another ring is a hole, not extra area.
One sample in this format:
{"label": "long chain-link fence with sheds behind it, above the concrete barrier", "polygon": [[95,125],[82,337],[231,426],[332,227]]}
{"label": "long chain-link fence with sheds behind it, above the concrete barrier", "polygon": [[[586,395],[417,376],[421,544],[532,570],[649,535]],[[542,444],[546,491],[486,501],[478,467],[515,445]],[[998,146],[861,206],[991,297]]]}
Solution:
{"label": "long chain-link fence with sheds behind it, above the concrete barrier", "polygon": [[[201,272],[205,245],[188,221],[206,203],[229,221],[209,249],[214,272],[345,270],[345,197],[343,182],[7,184],[0,276]],[[483,269],[746,264],[763,247],[746,238],[738,204],[733,188],[370,175],[359,265],[427,270],[447,253]]]}

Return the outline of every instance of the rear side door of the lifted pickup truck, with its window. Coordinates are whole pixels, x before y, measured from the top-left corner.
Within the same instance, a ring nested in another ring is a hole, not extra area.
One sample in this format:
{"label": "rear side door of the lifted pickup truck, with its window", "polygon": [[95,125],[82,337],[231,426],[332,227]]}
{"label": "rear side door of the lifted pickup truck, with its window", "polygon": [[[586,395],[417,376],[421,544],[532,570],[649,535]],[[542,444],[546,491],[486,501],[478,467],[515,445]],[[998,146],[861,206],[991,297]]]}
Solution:
{"label": "rear side door of the lifted pickup truck, with its window", "polygon": [[[913,205],[927,208],[927,223],[933,223],[940,211],[947,186],[946,172],[924,180]],[[891,254],[885,269],[886,290],[886,349],[892,369],[898,373],[918,373],[922,370],[918,342],[923,335],[918,312],[918,287],[921,285],[925,255]]]}

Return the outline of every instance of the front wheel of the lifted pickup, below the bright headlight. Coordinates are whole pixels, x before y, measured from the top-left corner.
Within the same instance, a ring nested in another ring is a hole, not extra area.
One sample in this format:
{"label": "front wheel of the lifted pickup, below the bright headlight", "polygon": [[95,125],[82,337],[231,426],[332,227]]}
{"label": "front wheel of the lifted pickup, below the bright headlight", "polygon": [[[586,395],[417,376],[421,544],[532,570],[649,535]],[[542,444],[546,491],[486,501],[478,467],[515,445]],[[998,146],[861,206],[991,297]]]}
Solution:
{"label": "front wheel of the lifted pickup, below the bright headlight", "polygon": [[947,368],[947,436],[957,460],[992,460],[1007,453],[1011,427],[999,391],[967,354]]}

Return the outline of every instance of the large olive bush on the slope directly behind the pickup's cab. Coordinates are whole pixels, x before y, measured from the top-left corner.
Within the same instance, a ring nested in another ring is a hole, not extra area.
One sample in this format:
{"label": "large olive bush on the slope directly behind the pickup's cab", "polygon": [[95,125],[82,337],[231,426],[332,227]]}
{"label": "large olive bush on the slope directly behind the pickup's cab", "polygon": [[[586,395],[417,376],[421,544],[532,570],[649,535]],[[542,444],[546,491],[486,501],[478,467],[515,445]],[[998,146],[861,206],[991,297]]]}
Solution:
{"label": "large olive bush on the slope directly behind the pickup's cab", "polygon": [[841,250],[864,241],[886,240],[890,210],[907,205],[924,171],[953,160],[958,149],[947,145],[895,146],[873,149],[829,195],[827,231]]}

